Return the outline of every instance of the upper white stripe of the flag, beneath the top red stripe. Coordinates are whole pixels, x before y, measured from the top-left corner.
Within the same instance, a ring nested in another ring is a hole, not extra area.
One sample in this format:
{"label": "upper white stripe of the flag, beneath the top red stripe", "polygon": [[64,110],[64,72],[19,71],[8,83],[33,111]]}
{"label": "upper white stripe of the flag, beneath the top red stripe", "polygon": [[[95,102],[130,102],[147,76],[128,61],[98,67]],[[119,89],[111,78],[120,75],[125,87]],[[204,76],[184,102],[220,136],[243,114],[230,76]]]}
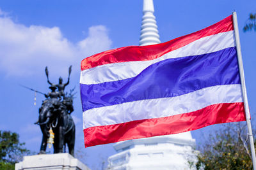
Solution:
{"label": "upper white stripe of the flag, beneath the top red stripe", "polygon": [[221,32],[219,34],[214,34],[212,36],[207,36],[193,41],[193,43],[182,46],[181,48],[166,53],[162,57],[154,60],[105,64],[83,70],[81,71],[80,83],[89,85],[108,81],[124,80],[140,74],[145,68],[161,60],[201,55],[233,46],[236,46],[234,41],[234,31]]}

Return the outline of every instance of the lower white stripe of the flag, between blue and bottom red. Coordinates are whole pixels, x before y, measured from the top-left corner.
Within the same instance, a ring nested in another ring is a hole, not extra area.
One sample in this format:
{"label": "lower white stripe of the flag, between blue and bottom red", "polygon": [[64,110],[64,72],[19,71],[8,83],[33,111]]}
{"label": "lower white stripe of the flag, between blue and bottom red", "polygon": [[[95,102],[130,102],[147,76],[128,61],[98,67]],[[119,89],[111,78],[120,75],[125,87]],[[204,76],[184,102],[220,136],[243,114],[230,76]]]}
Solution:
{"label": "lower white stripe of the flag, between blue and bottom red", "polygon": [[241,102],[241,85],[218,85],[177,97],[147,99],[86,110],[83,113],[83,128],[170,117],[212,104]]}

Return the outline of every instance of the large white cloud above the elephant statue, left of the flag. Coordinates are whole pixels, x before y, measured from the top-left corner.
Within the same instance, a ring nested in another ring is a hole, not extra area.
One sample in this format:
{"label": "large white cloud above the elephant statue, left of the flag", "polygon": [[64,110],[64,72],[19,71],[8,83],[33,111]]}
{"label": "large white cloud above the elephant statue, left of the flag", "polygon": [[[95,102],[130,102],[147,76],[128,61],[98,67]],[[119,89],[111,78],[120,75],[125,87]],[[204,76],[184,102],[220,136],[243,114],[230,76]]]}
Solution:
{"label": "large white cloud above the elephant statue, left of the flag", "polygon": [[93,53],[108,50],[111,39],[104,25],[89,28],[88,37],[72,43],[58,27],[17,24],[0,10],[0,71],[8,76],[31,76],[49,66],[52,74],[67,73]]}

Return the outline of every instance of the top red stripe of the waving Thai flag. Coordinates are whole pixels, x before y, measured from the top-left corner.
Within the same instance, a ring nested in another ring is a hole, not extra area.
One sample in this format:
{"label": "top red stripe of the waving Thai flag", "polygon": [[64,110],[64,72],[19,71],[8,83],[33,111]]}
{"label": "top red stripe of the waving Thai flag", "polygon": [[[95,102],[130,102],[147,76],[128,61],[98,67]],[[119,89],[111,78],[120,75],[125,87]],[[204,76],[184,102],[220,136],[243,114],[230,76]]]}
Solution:
{"label": "top red stripe of the waving Thai flag", "polygon": [[234,30],[232,15],[217,22],[214,25],[206,27],[200,31],[182,36],[166,43],[150,46],[125,46],[116,48],[115,50],[108,50],[106,52],[97,53],[91,57],[87,57],[81,62],[81,71],[90,69],[104,64],[128,61],[143,61],[152,60],[161,57],[165,53],[177,50],[178,48],[192,43],[196,39],[211,36],[220,32],[227,32]]}

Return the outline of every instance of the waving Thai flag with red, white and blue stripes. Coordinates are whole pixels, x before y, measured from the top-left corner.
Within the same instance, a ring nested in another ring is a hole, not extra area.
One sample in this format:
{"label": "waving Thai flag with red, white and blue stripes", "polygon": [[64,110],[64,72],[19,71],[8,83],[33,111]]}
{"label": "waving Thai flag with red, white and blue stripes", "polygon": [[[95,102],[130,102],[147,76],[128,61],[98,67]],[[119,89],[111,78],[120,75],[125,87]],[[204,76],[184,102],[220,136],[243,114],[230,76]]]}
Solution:
{"label": "waving Thai flag with red, white and blue stripes", "polygon": [[246,120],[232,15],[150,46],[81,62],[86,147]]}

